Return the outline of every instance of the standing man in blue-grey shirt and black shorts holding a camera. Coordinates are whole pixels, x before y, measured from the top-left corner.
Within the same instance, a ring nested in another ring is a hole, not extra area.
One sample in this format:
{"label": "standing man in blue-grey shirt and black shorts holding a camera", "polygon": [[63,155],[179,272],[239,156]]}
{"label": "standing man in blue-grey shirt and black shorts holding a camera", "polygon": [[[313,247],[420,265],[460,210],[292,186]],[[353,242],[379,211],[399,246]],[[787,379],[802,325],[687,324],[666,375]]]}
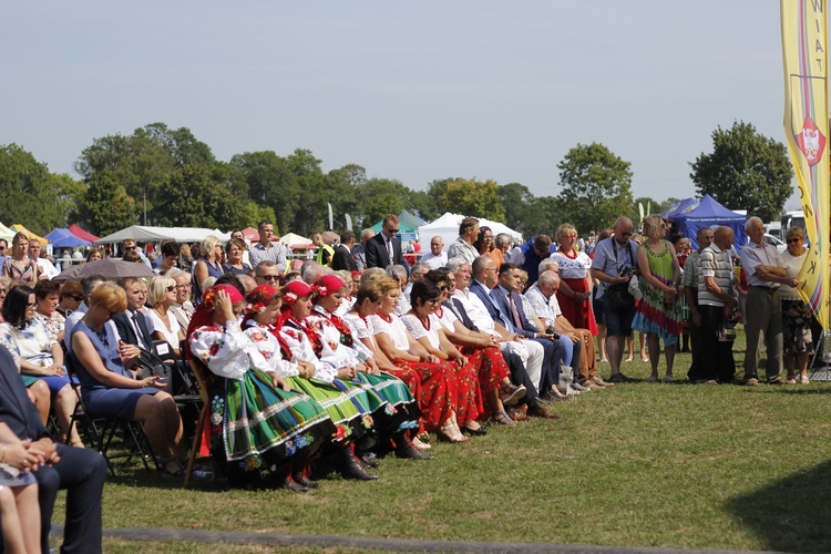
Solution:
{"label": "standing man in blue-grey shirt and black shorts holding a camera", "polygon": [[637,267],[637,244],[632,236],[632,219],[618,217],[614,234],[597,243],[592,277],[601,281],[597,298],[603,299],[606,318],[606,355],[612,366],[609,382],[627,382],[628,377],[620,372],[620,361],[626,337],[632,335],[632,320],[635,318],[635,297],[628,293],[628,285]]}

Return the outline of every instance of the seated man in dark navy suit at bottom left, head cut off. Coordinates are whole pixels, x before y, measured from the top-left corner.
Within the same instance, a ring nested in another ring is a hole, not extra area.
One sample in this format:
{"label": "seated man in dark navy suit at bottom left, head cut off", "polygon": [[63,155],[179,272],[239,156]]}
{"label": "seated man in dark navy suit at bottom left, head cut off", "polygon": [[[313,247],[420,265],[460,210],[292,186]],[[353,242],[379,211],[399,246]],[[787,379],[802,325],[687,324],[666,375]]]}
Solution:
{"label": "seated man in dark navy suit at bottom left, head cut off", "polygon": [[35,453],[43,464],[32,473],[38,480],[41,512],[41,551],[49,552],[49,530],[59,490],[66,493],[62,552],[101,552],[101,495],[106,462],[94,450],[58,444],[29,400],[11,355],[0,347],[0,421]]}

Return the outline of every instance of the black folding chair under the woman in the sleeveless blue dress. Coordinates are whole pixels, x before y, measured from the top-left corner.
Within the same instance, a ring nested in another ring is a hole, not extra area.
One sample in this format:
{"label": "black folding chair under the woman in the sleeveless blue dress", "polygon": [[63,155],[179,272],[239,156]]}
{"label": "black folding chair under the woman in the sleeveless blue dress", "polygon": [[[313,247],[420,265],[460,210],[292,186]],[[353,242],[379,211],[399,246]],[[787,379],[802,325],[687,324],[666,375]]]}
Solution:
{"label": "black folding chair under the woman in the sleeveless blue dress", "polygon": [[[74,425],[79,425],[79,431],[85,437],[85,443],[99,451],[106,461],[110,473],[115,476],[115,468],[126,466],[134,456],[138,456],[146,471],[151,471],[147,459],[153,460],[155,468],[158,468],[153,448],[147,442],[144,434],[144,427],[141,422],[125,420],[115,416],[102,416],[90,412],[83,401],[81,386],[72,380],[78,375],[76,368],[80,361],[73,353],[68,353],[64,359],[66,371],[70,376],[72,390],[75,392],[75,409],[70,419],[70,432]],[[79,423],[82,423],[79,424]],[[121,452],[111,451],[113,439],[121,431]],[[115,461],[120,461],[117,464]]]}

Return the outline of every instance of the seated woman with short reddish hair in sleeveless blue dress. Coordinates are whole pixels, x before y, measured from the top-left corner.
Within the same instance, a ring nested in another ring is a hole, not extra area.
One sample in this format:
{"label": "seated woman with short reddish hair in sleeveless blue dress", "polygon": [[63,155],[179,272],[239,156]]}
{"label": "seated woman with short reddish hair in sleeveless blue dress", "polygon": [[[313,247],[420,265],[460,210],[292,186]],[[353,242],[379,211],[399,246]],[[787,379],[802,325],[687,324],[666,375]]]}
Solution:
{"label": "seated woman with short reddish hair in sleeveless blue dress", "polygon": [[93,414],[141,421],[147,441],[161,459],[163,476],[184,476],[187,460],[182,440],[182,418],[176,403],[162,391],[158,376],[136,379],[129,369],[138,348],[119,340],[113,314],[127,306],[124,289],[105,281],[95,287],[90,307],[72,329],[72,356],[86,409]]}

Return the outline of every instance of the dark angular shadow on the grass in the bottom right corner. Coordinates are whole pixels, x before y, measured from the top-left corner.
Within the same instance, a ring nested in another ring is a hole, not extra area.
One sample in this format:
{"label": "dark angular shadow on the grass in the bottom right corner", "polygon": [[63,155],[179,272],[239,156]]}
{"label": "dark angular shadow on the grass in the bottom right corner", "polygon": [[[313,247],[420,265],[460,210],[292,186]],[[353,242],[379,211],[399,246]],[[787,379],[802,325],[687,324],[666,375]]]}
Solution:
{"label": "dark angular shadow on the grass in the bottom right corner", "polygon": [[831,461],[727,502],[767,548],[831,552]]}

